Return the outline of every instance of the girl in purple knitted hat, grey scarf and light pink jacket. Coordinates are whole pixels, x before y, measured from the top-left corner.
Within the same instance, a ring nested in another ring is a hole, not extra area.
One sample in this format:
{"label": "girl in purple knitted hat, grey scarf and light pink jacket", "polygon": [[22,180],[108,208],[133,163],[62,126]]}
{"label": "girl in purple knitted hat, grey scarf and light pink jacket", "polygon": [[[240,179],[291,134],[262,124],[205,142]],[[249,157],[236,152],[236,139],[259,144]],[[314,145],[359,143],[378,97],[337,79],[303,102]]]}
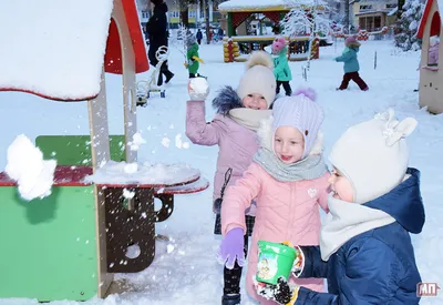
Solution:
{"label": "girl in purple knitted hat, grey scarf and light pink jacket", "polygon": [[[274,103],[272,118],[259,131],[262,148],[244,176],[227,189],[222,206],[225,236],[220,246],[222,260],[243,262],[243,235],[246,232],[243,212],[251,200],[257,203],[246,286],[249,295],[260,304],[272,302],[259,296],[254,286],[257,242],[319,244],[319,205],[327,211],[329,173],[319,135],[323,112],[313,99],[312,91],[301,91]],[[315,291],[323,289],[321,278],[291,281]]]}

